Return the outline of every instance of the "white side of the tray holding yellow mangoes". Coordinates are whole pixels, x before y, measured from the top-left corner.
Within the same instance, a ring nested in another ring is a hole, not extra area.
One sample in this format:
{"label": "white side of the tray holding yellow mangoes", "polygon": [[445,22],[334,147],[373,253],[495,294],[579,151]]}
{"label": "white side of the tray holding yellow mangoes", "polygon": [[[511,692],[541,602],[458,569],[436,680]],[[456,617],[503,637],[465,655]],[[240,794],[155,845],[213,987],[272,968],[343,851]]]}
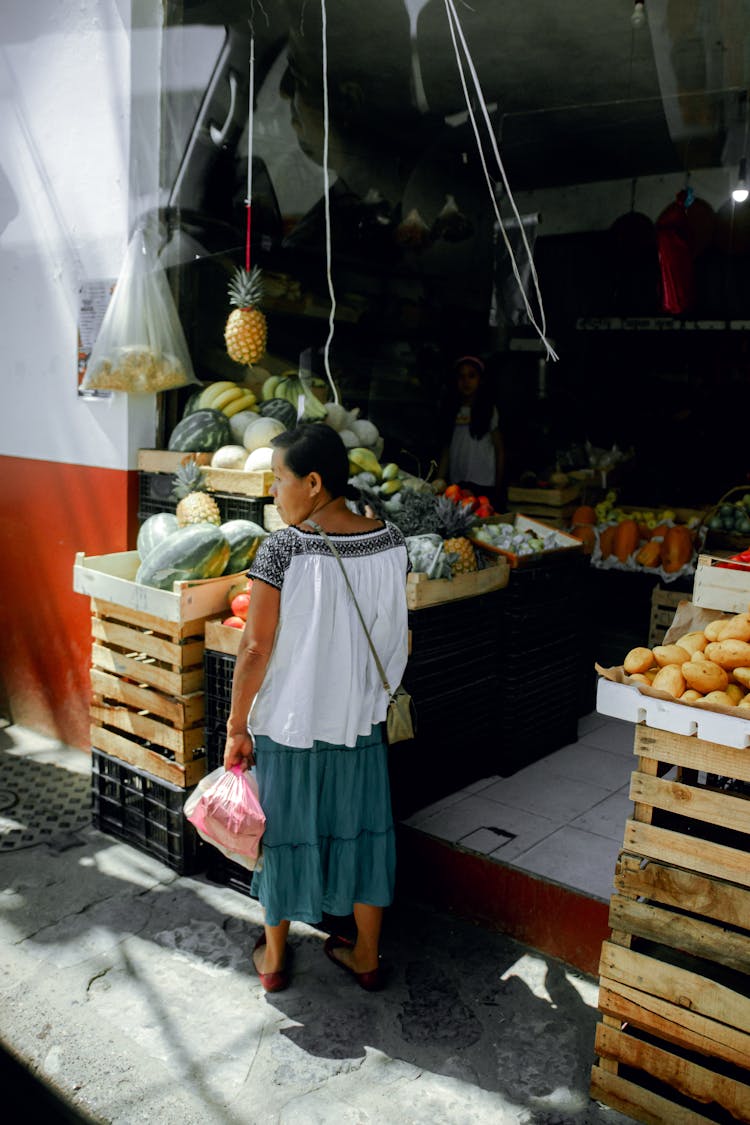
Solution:
{"label": "white side of the tray holding yellow mangoes", "polygon": [[599,678],[596,688],[596,710],[599,714],[626,722],[643,722],[657,730],[672,735],[695,735],[706,742],[744,749],[750,746],[750,720],[704,711],[685,703],[643,695],[633,684],[616,684]]}

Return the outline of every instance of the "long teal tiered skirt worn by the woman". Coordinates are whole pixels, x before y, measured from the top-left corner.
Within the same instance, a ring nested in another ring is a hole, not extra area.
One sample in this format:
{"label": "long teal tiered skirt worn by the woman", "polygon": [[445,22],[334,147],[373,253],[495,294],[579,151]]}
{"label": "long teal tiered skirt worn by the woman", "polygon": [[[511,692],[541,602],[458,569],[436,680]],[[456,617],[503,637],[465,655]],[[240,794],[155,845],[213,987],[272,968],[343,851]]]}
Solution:
{"label": "long teal tiered skirt worn by the woman", "polygon": [[353,747],[300,749],[259,735],[255,763],[265,831],[251,893],[266,926],[315,925],[324,914],[350,915],[355,902],[389,906],[396,838],[381,726]]}

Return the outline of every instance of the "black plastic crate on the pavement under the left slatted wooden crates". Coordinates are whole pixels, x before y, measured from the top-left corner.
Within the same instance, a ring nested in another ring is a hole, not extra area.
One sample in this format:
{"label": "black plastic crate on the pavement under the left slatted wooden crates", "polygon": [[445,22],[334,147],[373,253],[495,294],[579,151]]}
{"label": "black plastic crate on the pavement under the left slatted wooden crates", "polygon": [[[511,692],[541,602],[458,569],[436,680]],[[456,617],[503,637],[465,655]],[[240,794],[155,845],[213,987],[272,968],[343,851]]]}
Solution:
{"label": "black plastic crate on the pavement under the left slatted wooden crates", "polygon": [[96,828],[155,856],[180,875],[201,871],[206,847],[182,811],[191,789],[91,752],[91,809]]}

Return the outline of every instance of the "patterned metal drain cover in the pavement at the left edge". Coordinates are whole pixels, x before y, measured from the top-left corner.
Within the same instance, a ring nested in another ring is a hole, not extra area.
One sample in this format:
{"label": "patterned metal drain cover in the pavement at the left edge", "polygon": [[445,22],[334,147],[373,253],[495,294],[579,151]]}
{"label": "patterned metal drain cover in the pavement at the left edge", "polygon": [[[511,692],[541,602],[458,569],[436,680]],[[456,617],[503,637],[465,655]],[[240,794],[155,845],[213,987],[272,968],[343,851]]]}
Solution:
{"label": "patterned metal drain cover in the pavement at the left edge", "polygon": [[0,852],[33,847],[91,824],[91,781],[0,750]]}

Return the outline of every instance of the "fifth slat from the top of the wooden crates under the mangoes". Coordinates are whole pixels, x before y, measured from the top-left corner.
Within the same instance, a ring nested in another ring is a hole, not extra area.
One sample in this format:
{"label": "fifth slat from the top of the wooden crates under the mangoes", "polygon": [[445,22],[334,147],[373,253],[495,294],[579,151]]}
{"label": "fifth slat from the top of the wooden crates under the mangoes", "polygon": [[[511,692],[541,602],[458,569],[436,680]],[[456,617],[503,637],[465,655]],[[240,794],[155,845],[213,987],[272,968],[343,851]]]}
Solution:
{"label": "fifth slat from the top of the wooden crates under the mangoes", "polygon": [[701,918],[613,894],[609,899],[609,926],[633,937],[715,961],[741,973],[750,972],[750,935],[734,934]]}

